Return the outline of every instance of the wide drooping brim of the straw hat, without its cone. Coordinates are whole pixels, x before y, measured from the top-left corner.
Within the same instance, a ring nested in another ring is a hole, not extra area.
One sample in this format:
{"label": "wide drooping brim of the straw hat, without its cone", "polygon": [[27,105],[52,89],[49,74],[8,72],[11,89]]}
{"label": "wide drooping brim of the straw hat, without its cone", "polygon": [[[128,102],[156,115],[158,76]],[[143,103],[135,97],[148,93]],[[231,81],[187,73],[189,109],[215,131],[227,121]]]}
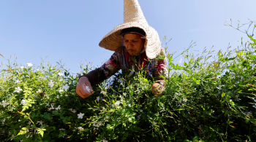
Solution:
{"label": "wide drooping brim of the straw hat, without its cone", "polygon": [[124,28],[137,27],[143,29],[146,33],[146,42],[145,42],[145,50],[146,55],[150,59],[154,59],[159,55],[161,51],[161,42],[159,39],[159,35],[157,31],[151,26],[145,23],[139,22],[131,22],[131,23],[123,23],[121,25],[117,25],[110,31],[107,35],[105,35],[102,40],[99,42],[99,47],[105,48],[107,50],[116,51],[119,47],[124,46],[123,39],[120,36],[121,30]]}

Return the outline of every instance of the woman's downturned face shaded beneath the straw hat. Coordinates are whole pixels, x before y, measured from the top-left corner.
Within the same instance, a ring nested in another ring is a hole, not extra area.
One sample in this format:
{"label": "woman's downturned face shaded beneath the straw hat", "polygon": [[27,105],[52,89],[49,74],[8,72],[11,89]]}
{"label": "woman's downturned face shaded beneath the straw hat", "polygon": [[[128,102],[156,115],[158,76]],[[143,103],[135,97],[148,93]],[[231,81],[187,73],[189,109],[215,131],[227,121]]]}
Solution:
{"label": "woman's downturned face shaded beneath the straw hat", "polygon": [[127,33],[124,35],[124,45],[129,55],[136,55],[143,50],[143,42],[136,34]]}

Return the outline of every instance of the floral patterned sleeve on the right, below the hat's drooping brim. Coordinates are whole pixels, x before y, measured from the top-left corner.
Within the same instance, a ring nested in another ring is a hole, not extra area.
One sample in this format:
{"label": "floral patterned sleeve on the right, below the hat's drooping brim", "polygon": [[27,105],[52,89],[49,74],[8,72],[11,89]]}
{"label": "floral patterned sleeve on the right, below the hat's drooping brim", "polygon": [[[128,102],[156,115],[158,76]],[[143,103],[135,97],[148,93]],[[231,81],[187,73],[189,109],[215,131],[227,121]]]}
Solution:
{"label": "floral patterned sleeve on the right, below the hat's drooping brim", "polygon": [[168,78],[168,70],[167,70],[167,59],[165,55],[165,50],[162,48],[160,55],[155,60],[155,76],[157,80],[162,80],[161,76],[166,76]]}

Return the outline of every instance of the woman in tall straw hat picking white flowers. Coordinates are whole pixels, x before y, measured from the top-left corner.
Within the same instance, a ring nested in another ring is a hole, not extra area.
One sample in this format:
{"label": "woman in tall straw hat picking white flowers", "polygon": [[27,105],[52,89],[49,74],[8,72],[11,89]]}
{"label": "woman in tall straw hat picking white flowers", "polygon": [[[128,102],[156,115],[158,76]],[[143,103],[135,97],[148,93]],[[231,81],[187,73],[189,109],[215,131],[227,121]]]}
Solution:
{"label": "woman in tall straw hat picking white flowers", "polygon": [[165,89],[162,78],[167,77],[165,52],[157,31],[148,25],[138,0],[124,0],[124,23],[104,36],[99,47],[115,52],[100,68],[80,76],[76,92],[81,98],[93,93],[91,85],[108,79],[119,69],[128,71],[127,77],[143,69],[148,77],[157,80],[152,84],[154,94],[159,95]]}

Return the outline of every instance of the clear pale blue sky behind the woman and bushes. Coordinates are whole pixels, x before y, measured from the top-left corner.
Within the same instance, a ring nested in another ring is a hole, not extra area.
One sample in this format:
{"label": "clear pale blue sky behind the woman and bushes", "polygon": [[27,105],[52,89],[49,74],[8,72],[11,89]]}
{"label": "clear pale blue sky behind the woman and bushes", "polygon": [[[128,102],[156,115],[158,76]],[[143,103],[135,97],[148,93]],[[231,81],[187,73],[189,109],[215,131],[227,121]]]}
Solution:
{"label": "clear pale blue sky behind the woman and bushes", "polygon": [[[225,50],[240,46],[244,33],[225,26],[248,18],[256,21],[255,0],[138,0],[148,21],[162,40],[172,39],[168,51],[182,52],[193,40],[194,50]],[[40,57],[56,64],[62,60],[73,73],[80,62],[95,67],[113,51],[99,41],[123,23],[122,0],[2,0],[0,1],[0,54],[15,55],[19,65],[39,65]],[[245,27],[246,28],[246,27]],[[245,29],[242,28],[242,29]],[[239,42],[238,42],[239,41]],[[180,58],[178,58],[179,60]],[[0,61],[7,63],[4,58]]]}

